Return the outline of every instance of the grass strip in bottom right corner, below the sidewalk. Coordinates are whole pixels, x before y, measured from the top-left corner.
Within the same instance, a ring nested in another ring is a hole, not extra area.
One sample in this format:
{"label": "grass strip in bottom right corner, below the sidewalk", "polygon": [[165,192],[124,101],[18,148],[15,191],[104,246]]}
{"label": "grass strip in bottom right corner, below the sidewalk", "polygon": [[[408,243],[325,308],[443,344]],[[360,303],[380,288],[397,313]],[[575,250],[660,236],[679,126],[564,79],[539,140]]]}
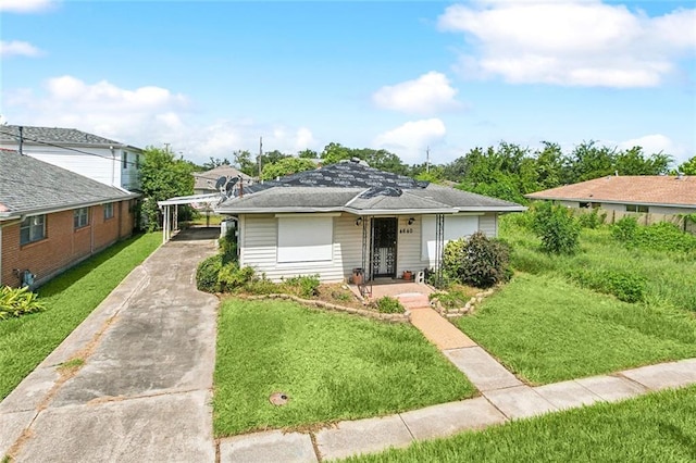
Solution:
{"label": "grass strip in bottom right corner, below the sidewalk", "polygon": [[696,387],[515,421],[349,461],[693,462]]}

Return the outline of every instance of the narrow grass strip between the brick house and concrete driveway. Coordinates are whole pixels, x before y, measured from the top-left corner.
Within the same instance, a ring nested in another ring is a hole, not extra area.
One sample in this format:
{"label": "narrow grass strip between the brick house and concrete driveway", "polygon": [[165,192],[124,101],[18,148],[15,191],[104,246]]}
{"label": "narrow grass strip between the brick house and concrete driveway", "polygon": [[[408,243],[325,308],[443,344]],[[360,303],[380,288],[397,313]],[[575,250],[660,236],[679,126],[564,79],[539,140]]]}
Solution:
{"label": "narrow grass strip between the brick house and concrete driveway", "polygon": [[39,288],[46,311],[0,322],[0,398],[46,359],[161,240],[154,233],[115,243]]}

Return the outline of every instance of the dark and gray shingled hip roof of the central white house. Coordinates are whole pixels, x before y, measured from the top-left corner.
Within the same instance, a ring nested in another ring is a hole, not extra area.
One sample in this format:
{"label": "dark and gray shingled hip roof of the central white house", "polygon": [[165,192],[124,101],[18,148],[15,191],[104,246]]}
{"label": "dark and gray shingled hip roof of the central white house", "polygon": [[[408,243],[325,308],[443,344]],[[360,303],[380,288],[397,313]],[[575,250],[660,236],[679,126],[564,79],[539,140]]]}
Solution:
{"label": "dark and gray shingled hip roof of the central white house", "polygon": [[223,201],[215,212],[236,214],[322,210],[366,215],[377,212],[512,212],[524,209],[513,202],[417,182],[356,162],[344,162],[252,185],[244,189],[244,197]]}

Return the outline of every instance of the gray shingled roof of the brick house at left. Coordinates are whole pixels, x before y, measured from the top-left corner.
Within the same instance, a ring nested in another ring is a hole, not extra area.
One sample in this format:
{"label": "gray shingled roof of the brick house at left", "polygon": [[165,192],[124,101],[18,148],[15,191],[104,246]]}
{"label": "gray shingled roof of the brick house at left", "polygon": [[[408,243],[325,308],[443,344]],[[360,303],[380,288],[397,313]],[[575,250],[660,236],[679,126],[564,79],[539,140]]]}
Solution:
{"label": "gray shingled roof of the brick house at left", "polygon": [[0,150],[0,217],[121,201],[137,195],[16,151]]}

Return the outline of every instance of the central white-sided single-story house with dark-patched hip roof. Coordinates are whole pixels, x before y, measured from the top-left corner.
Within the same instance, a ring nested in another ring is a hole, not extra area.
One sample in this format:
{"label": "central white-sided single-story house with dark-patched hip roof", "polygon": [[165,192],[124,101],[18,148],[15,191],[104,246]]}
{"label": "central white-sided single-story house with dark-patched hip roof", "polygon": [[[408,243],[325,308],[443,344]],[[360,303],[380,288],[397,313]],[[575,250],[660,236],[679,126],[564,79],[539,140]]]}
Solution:
{"label": "central white-sided single-story house with dark-patched hip roof", "polygon": [[436,268],[444,245],[497,235],[498,216],[525,208],[381,172],[359,160],[256,184],[214,208],[237,221],[240,265],[273,280],[319,274],[343,281]]}

